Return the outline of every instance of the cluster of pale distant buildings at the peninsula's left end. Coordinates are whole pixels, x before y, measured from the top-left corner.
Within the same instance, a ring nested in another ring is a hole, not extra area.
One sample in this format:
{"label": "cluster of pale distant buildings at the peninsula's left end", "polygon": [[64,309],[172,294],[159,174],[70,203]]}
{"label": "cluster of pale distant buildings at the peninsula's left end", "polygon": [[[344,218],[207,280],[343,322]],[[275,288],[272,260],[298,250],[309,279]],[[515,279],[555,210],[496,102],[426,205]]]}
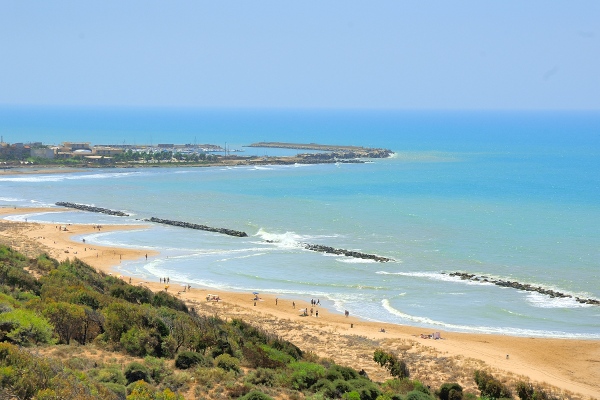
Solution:
{"label": "cluster of pale distant buildings at the peninsula's left end", "polygon": [[116,154],[123,153],[122,148],[111,146],[91,146],[90,142],[63,142],[60,146],[33,143],[5,143],[0,141],[0,158],[23,159],[38,157],[46,159],[67,159],[84,157],[89,160],[110,159]]}

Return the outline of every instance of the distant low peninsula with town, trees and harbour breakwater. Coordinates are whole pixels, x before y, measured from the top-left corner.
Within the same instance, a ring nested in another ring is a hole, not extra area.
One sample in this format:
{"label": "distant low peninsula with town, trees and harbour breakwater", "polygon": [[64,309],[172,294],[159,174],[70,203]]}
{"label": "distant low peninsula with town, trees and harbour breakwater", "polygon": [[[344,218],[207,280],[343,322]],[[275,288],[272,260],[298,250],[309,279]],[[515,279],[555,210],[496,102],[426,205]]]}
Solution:
{"label": "distant low peninsula with town, trees and harbour breakwater", "polygon": [[[385,158],[386,149],[357,146],[260,142],[248,147],[271,147],[311,150],[312,153],[291,157],[243,156],[243,150],[213,144],[92,145],[91,142],[5,143],[0,141],[0,163],[4,168],[27,165],[132,166],[155,164],[252,165],[252,164],[320,164],[362,162],[361,158]],[[218,153],[218,154],[215,154]],[[240,154],[238,154],[240,153]]]}

